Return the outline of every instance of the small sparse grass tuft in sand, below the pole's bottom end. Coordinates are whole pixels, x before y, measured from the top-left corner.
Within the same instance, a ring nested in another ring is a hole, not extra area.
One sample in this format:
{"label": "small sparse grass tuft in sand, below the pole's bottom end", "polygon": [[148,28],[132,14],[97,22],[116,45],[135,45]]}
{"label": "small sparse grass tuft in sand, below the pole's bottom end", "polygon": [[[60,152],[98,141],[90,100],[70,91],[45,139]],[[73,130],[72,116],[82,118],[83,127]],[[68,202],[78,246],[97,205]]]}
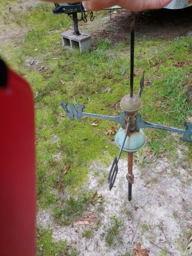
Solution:
{"label": "small sparse grass tuft in sand, below the pole's bottom end", "polygon": [[121,230],[122,230],[122,221],[116,216],[111,216],[109,221],[109,227],[106,229],[106,243],[109,246],[112,246],[115,242],[121,242]]}

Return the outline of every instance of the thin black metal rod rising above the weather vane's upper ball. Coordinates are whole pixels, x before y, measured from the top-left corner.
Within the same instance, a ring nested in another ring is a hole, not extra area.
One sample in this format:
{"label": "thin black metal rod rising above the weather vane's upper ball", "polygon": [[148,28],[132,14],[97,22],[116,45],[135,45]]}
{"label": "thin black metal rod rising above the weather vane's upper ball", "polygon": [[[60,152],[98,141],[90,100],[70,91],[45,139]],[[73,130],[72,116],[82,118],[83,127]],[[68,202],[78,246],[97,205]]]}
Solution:
{"label": "thin black metal rod rising above the weather vane's upper ball", "polygon": [[130,65],[130,97],[133,98],[133,77],[134,77],[134,28],[136,14],[131,13],[131,65]]}

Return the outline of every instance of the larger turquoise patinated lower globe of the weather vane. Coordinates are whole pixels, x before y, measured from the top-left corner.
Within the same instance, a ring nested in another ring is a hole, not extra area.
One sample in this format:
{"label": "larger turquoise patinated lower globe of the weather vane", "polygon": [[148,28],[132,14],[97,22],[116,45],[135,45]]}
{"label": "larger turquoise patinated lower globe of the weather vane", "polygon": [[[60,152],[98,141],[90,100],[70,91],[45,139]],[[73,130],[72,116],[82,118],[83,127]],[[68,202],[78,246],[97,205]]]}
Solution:
{"label": "larger turquoise patinated lower globe of the weather vane", "polygon": [[[115,135],[115,142],[118,147],[122,147],[122,144],[124,143],[124,136],[125,136],[125,130],[120,128],[118,132]],[[127,137],[124,143],[124,147],[122,150],[126,152],[137,152],[141,148],[143,148],[146,144],[146,138],[145,134],[143,133],[143,130],[140,129],[139,132],[131,132],[130,136]]]}

